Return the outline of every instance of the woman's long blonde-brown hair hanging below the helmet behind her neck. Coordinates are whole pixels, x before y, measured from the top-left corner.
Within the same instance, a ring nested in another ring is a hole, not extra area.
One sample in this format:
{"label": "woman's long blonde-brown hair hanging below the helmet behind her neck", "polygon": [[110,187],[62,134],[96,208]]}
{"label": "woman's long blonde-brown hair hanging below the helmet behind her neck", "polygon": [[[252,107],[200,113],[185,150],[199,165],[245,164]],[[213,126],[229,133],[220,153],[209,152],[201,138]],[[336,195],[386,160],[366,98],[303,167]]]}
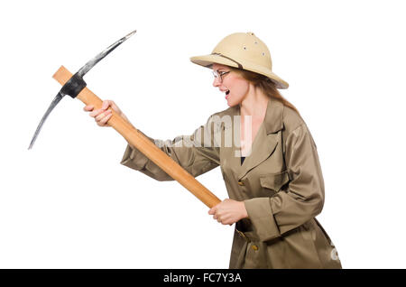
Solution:
{"label": "woman's long blonde-brown hair hanging below the helmet behind her neck", "polygon": [[250,70],[237,69],[234,67],[228,68],[235,71],[235,73],[237,73],[244,79],[253,83],[255,88],[261,88],[261,90],[266,96],[272,97],[273,99],[280,101],[284,106],[291,107],[300,116],[300,113],[296,108],[296,106],[293,106],[286,98],[282,97],[281,93],[279,92],[278,88],[276,88],[276,85],[272,81],[272,79],[269,79],[268,77],[263,76],[261,74],[254,73]]}

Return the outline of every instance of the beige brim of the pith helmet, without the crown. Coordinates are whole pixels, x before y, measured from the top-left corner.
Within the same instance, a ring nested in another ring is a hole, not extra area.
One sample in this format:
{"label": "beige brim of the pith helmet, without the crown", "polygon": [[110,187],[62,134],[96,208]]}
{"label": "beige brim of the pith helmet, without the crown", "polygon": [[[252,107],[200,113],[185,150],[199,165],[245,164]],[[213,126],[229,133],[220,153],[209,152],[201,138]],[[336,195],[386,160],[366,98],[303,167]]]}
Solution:
{"label": "beige brim of the pith helmet, without the crown", "polygon": [[[211,66],[214,63],[238,68],[238,64],[235,61],[229,60],[227,58],[224,58],[224,57],[221,57],[221,56],[215,55],[215,54],[195,56],[195,57],[191,57],[190,60],[193,63],[206,67],[206,68],[211,68]],[[258,66],[258,65],[255,65],[254,63],[247,62],[246,60],[244,62],[243,69],[250,70],[255,73],[268,77],[275,83],[276,88],[289,88],[289,84],[286,81],[284,81],[283,79],[281,79],[278,75],[273,73],[272,70],[270,70],[270,69],[263,68],[262,66]]]}

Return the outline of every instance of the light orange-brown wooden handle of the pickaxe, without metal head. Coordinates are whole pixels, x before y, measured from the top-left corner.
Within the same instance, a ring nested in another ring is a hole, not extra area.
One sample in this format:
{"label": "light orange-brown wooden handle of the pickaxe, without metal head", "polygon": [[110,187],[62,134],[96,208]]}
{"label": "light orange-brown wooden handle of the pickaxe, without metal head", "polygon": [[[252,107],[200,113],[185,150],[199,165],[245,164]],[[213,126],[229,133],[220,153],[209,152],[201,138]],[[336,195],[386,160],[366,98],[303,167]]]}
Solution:
{"label": "light orange-brown wooden handle of the pickaxe, without metal head", "polygon": [[[52,76],[60,85],[64,85],[70,78],[72,73],[68,69],[61,66],[60,69]],[[84,88],[77,97],[86,105],[92,105],[96,109],[101,108],[103,101],[90,91]],[[125,140],[145,154],[152,162],[155,162],[163,171],[171,175],[172,179],[179,181],[187,190],[193,193],[200,199],[208,208],[212,208],[221,200],[216,197],[210,190],[198,182],[188,171],[185,171],[177,162],[173,161],[166,153],[163,153],[158,146],[153,144],[147,137],[139,133],[138,130],[128,123],[122,116],[119,116],[112,110],[112,116],[108,120],[108,125],[111,125],[119,134],[123,135]]]}

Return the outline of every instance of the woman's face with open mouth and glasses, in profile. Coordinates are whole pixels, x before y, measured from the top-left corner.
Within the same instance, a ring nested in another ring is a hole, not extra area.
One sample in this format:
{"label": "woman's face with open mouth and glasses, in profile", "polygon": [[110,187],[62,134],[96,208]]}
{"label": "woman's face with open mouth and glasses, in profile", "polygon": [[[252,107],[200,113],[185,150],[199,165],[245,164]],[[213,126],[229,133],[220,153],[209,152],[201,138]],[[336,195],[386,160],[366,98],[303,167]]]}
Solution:
{"label": "woman's face with open mouth and glasses, in profile", "polygon": [[[228,66],[216,63],[213,64],[212,69],[217,70],[220,74],[221,72],[230,70]],[[221,78],[222,80],[215,78],[213,86],[218,87],[220,91],[225,93],[224,95],[228,106],[239,105],[248,94],[250,88],[249,82],[232,70]]]}

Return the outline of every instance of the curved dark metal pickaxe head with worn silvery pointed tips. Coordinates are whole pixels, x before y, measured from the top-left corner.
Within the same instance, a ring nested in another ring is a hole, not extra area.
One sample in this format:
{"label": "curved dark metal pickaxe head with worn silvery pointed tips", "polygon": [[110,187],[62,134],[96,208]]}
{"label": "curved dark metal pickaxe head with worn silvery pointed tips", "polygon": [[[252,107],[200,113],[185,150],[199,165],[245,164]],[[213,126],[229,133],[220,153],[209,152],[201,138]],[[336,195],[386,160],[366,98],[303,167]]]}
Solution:
{"label": "curved dark metal pickaxe head with worn silvery pointed tips", "polygon": [[32,136],[31,144],[28,147],[28,149],[32,148],[32,145],[35,143],[35,140],[37,139],[38,134],[40,134],[41,128],[47,117],[50,115],[52,109],[58,105],[62,97],[65,97],[66,95],[70,97],[77,97],[78,94],[82,91],[83,88],[86,87],[86,82],[83,80],[83,76],[88,73],[90,69],[92,69],[100,60],[103,60],[111,51],[115,50],[122,42],[125,42],[128,38],[134,35],[136,30],[133,32],[128,33],[125,35],[125,37],[121,38],[117,42],[114,42],[112,45],[108,46],[104,51],[100,52],[97,54],[95,58],[92,60],[89,60],[85,66],[80,68],[78,72],[76,72],[66,83],[63,85],[62,88],[60,88],[60,91],[56,95],[56,97],[52,100],[51,105],[48,107],[47,111],[45,112],[45,115],[42,116],[41,122],[38,125],[34,135]]}

